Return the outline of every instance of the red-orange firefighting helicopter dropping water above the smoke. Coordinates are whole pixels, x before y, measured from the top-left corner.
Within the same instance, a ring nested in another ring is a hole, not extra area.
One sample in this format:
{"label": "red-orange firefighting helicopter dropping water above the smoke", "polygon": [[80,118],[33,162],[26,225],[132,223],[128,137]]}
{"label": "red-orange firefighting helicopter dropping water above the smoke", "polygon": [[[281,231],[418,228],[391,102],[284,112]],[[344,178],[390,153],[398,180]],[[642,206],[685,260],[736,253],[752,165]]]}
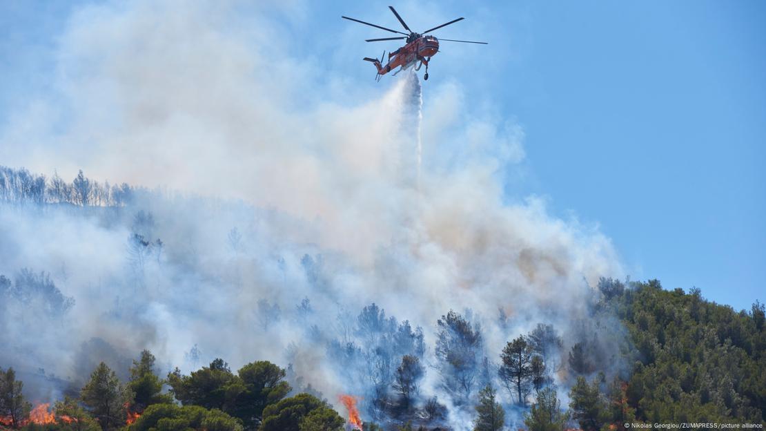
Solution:
{"label": "red-orange firefighting helicopter dropping water above the smoke", "polygon": [[[407,26],[407,24],[404,23],[404,20],[401,19],[401,16],[396,12],[396,9],[394,9],[393,6],[388,6],[388,8],[391,9],[391,12],[394,12],[394,15],[396,16],[396,19],[401,22],[402,27],[404,27],[405,30],[409,31],[410,33],[404,33],[402,31],[396,31],[391,30],[391,28],[385,28],[380,25],[370,24],[369,22],[360,21],[355,18],[349,18],[347,16],[342,16],[341,18],[348,19],[349,21],[355,21],[364,25],[370,25],[375,28],[380,28],[381,30],[385,31],[391,31],[391,33],[398,33],[400,35],[404,36],[398,36],[396,38],[381,38],[381,39],[367,39],[367,42],[378,42],[378,41],[397,41],[400,39],[405,39],[407,41],[407,44],[405,44],[403,47],[399,48],[398,50],[394,52],[388,53],[388,62],[383,65],[383,61],[385,59],[385,51],[383,51],[383,56],[380,60],[377,58],[369,58],[365,57],[365,61],[371,61],[372,64],[375,64],[375,67],[378,69],[378,74],[375,75],[375,80],[380,80],[380,77],[382,75],[388,74],[388,72],[391,71],[391,69],[394,69],[396,67],[401,67],[398,71],[394,72],[394,76],[398,74],[401,71],[404,71],[408,67],[416,64],[418,61],[420,61],[420,64],[417,64],[415,67],[416,71],[420,71],[421,67],[425,64],[426,66],[426,73],[423,75],[424,80],[428,80],[428,63],[434,55],[436,55],[437,52],[439,52],[439,41],[450,41],[450,42],[462,42],[466,44],[487,44],[486,42],[474,42],[474,41],[456,41],[454,39],[437,39],[434,38],[434,36],[431,35],[424,35],[422,33],[415,33],[414,31],[410,30],[410,28]],[[465,18],[457,18],[453,19],[450,22],[447,22],[442,25],[437,25],[434,28],[429,28],[426,31],[423,31],[423,33],[428,33],[430,31],[434,31],[437,28],[446,27],[447,25],[454,24],[457,21],[461,21]]]}

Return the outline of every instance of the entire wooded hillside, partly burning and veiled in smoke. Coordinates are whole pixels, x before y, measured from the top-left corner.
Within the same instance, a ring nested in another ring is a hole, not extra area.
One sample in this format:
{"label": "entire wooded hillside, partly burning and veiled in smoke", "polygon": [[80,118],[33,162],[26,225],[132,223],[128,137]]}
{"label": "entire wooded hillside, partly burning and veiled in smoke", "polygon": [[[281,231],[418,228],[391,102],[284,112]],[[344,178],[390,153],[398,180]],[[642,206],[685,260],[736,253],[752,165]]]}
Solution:
{"label": "entire wooded hillside, partly burning and veiled in smoke", "polygon": [[411,302],[394,316],[381,304],[407,294],[398,279],[344,296],[361,275],[273,235],[302,229],[277,218],[0,168],[0,428],[594,430],[766,416],[758,301],[737,312],[699,289],[605,277],[572,288],[576,308]]}

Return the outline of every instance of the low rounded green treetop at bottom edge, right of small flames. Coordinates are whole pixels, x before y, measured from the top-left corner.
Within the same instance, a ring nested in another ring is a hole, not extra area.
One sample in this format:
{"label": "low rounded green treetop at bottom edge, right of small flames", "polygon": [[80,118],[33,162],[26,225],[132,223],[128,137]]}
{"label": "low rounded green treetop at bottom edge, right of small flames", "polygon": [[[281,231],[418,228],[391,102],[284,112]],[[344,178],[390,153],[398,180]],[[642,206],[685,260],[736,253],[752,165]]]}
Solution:
{"label": "low rounded green treetop at bottom edge, right of small flames", "polygon": [[146,407],[127,431],[242,431],[242,424],[221,410],[207,410],[201,406],[152,404]]}

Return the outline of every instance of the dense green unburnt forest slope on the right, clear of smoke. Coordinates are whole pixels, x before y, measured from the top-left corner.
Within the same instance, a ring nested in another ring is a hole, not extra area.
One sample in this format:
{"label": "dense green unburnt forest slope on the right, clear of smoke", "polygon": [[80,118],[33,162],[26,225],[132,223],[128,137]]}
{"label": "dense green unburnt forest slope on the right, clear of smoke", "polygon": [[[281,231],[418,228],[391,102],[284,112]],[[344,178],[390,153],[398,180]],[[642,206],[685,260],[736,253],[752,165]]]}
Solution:
{"label": "dense green unburnt forest slope on the right, clear of smoke", "polygon": [[[766,417],[764,304],[750,311],[705,301],[699,289],[603,280],[598,308],[620,317],[634,358],[625,381],[578,377],[572,416],[608,423],[762,423]],[[607,384],[610,383],[610,384]]]}

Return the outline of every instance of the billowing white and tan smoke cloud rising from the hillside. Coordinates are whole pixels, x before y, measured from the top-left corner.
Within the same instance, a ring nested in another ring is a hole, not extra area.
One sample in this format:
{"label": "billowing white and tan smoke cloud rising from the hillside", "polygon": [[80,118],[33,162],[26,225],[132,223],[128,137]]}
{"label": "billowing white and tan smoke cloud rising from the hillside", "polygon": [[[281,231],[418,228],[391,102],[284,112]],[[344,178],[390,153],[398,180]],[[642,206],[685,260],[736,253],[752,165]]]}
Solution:
{"label": "billowing white and tan smoke cloud rising from the hillside", "polygon": [[[332,401],[350,383],[290,320],[304,297],[326,337],[339,315],[375,301],[424,327],[430,345],[441,314],[470,308],[497,360],[511,334],[538,321],[567,327],[589,285],[622,275],[597,229],[551,216],[543,199],[508,203],[502,173],[523,157],[518,124],[471,115],[456,84],[424,104],[414,74],[355,106],[306,99],[298,61],[251,15],[259,25],[218,2],[137,2],[72,16],[54,97],[11,119],[0,161],[185,196],[139,199],[165,243],[140,283],[126,251],[133,214],[2,209],[0,274],[50,271],[77,301],[66,324],[34,327],[40,344],[9,360],[74,376],[80,344],[100,337],[189,370],[185,352],[198,344],[203,362],[291,362]],[[284,317],[265,329],[263,299]],[[492,323],[498,308],[512,328]]]}

